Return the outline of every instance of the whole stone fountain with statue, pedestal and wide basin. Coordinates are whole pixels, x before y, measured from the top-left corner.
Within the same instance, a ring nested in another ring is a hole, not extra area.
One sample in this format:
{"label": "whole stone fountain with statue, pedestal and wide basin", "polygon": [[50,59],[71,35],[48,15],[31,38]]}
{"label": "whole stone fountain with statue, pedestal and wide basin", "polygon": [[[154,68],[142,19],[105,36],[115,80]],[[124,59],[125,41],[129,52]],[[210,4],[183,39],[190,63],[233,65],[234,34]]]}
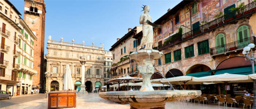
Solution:
{"label": "whole stone fountain with statue, pedestal and wide basin", "polygon": [[138,62],[138,70],[143,78],[143,84],[139,91],[112,91],[100,92],[103,99],[115,102],[129,102],[130,109],[165,109],[166,101],[184,101],[201,95],[201,90],[154,90],[150,77],[155,69],[153,63],[163,56],[162,52],[152,49],[153,27],[151,17],[148,15],[149,7],[144,6],[144,14],[140,16],[140,24],[143,24],[143,37],[141,50],[130,55],[132,60]]}

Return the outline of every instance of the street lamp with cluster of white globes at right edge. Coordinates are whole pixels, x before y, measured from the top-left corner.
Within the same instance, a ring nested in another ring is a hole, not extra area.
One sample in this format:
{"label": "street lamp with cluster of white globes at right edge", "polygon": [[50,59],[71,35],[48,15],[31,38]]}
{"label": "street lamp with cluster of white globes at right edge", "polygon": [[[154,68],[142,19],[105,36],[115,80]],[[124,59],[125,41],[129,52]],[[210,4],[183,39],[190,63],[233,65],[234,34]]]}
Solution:
{"label": "street lamp with cluster of white globes at right edge", "polygon": [[[255,47],[255,44],[249,44],[248,46],[244,47],[244,50],[242,52],[243,55],[245,55],[245,60],[248,61],[250,60],[252,63],[252,74],[255,73],[254,71],[254,60],[256,57],[253,57],[252,49]],[[249,54],[249,51],[251,50],[251,54]],[[254,92],[254,97],[253,97],[253,109],[256,109],[256,82],[253,80],[253,92]]]}

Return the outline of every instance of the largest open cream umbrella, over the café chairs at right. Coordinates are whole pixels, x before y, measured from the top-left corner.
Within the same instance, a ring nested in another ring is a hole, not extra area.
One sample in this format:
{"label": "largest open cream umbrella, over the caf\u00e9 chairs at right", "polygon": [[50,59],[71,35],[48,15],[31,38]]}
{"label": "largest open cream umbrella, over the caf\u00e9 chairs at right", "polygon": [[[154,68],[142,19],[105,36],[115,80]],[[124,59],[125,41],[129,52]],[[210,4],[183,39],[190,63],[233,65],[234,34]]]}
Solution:
{"label": "largest open cream umbrella, over the caf\u00e9 chairs at right", "polygon": [[212,76],[205,76],[205,77],[198,77],[193,78],[192,81],[195,82],[215,82],[215,83],[225,83],[225,90],[227,94],[227,83],[228,82],[251,82],[252,80],[249,80],[248,75],[242,75],[242,74],[217,74]]}

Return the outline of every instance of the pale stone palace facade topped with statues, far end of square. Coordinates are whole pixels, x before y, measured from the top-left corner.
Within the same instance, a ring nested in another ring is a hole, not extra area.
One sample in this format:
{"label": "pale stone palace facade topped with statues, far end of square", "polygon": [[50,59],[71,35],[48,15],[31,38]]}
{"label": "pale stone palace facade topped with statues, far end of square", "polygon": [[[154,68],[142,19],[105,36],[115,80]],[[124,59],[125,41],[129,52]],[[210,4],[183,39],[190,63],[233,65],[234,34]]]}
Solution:
{"label": "pale stone palace facade topped with statues, far end of square", "polygon": [[75,89],[80,89],[82,77],[82,64],[79,61],[80,56],[86,56],[84,81],[87,92],[101,90],[104,85],[104,47],[96,47],[93,45],[75,44],[51,40],[48,37],[47,43],[47,65],[46,70],[46,89],[49,91],[63,90],[63,76],[65,67],[68,64],[71,69],[71,75]]}

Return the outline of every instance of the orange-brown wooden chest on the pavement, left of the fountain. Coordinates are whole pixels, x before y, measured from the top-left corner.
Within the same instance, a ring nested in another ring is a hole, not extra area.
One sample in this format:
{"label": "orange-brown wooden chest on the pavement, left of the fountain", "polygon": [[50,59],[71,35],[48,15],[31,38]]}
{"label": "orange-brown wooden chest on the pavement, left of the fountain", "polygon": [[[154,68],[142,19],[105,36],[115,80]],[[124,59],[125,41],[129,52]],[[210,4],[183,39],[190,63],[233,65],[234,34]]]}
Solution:
{"label": "orange-brown wooden chest on the pavement, left of the fountain", "polygon": [[75,108],[76,91],[60,90],[48,93],[48,109]]}

